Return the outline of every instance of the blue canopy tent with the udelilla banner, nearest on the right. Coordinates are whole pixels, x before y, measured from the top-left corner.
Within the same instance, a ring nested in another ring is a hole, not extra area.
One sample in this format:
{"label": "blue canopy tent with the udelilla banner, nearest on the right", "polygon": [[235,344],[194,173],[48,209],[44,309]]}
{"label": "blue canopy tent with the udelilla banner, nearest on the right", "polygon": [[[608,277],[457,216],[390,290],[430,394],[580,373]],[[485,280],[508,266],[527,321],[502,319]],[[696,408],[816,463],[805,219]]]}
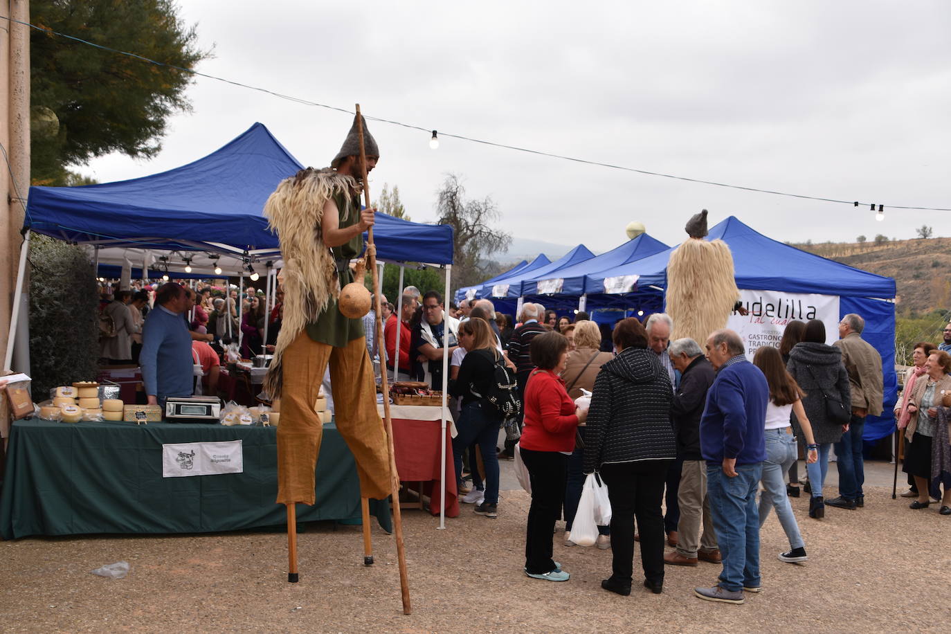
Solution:
{"label": "blue canopy tent with the udelilla banner, nearest on the right", "polygon": [[[733,253],[736,285],[741,289],[816,293],[839,296],[840,318],[855,313],[865,319],[862,337],[882,355],[884,415],[869,417],[864,439],[876,441],[894,430],[891,415],[898,390],[895,375],[895,280],[806,253],[763,234],[730,216],[709,230],[707,240],[724,240]],[[645,259],[587,276],[592,286],[604,279],[637,275],[639,289],[667,288],[667,264],[673,248]],[[590,287],[589,287],[590,288]],[[589,295],[589,302],[601,296]]]}

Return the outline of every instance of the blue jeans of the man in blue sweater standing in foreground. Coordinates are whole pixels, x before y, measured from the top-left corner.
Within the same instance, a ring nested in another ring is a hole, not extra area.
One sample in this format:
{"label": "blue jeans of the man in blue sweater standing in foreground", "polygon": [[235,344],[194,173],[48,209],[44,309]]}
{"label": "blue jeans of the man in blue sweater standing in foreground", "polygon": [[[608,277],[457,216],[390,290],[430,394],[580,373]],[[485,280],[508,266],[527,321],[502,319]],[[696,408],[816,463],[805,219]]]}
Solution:
{"label": "blue jeans of the man in blue sweater standing in foreground", "polygon": [[719,586],[731,592],[762,584],[760,516],[756,509],[756,489],[762,475],[762,463],[737,465],[733,477],[728,477],[719,463],[707,463],[707,497],[723,556]]}

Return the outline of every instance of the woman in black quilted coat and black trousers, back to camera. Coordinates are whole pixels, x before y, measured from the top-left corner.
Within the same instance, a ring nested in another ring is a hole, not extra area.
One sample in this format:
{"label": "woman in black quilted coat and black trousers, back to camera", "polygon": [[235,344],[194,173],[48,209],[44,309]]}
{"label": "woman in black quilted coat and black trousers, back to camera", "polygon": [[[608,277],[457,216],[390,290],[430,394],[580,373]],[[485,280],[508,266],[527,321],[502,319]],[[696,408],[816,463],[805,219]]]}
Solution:
{"label": "woman in black quilted coat and black trousers, back to camera", "polygon": [[664,516],[661,501],[670,462],[676,456],[670,376],[647,349],[637,319],[622,319],[612,335],[617,356],[594,380],[585,435],[584,471],[600,471],[611,499],[611,577],[601,587],[631,594],[634,517],[640,531],[644,586],[664,585]]}

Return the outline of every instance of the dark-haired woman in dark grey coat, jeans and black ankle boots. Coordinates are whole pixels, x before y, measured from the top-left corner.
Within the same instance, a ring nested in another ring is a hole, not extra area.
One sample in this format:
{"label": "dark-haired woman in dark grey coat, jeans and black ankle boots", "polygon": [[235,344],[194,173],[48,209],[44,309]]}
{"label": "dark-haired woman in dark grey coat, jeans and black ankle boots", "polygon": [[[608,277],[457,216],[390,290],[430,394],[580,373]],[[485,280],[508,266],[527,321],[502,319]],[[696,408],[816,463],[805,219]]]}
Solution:
{"label": "dark-haired woman in dark grey coat, jeans and black ankle boots", "polygon": [[[819,445],[819,460],[805,465],[809,474],[809,517],[825,517],[825,498],[823,483],[829,468],[829,449],[838,442],[844,432],[844,426],[829,419],[825,411],[825,394],[841,399],[845,407],[851,403],[848,387],[848,373],[842,363],[842,351],[825,343],[825,324],[812,319],[805,324],[803,340],[793,346],[789,352],[786,370],[796,379],[796,383],[805,392],[803,408],[805,416],[812,424],[812,435]],[[793,414],[795,418],[795,414]]]}

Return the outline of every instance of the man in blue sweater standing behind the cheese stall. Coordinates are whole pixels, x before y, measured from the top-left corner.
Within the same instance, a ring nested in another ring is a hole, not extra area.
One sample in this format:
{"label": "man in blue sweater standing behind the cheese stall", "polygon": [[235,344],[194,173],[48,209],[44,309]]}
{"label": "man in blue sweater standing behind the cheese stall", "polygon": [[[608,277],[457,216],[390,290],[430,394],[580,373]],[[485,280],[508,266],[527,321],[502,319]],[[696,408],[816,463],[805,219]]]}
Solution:
{"label": "man in blue sweater standing behind the cheese stall", "polygon": [[182,318],[194,306],[194,294],[167,282],[155,294],[155,309],[142,328],[142,382],[149,405],[165,406],[167,396],[190,396],[194,381],[191,335]]}

